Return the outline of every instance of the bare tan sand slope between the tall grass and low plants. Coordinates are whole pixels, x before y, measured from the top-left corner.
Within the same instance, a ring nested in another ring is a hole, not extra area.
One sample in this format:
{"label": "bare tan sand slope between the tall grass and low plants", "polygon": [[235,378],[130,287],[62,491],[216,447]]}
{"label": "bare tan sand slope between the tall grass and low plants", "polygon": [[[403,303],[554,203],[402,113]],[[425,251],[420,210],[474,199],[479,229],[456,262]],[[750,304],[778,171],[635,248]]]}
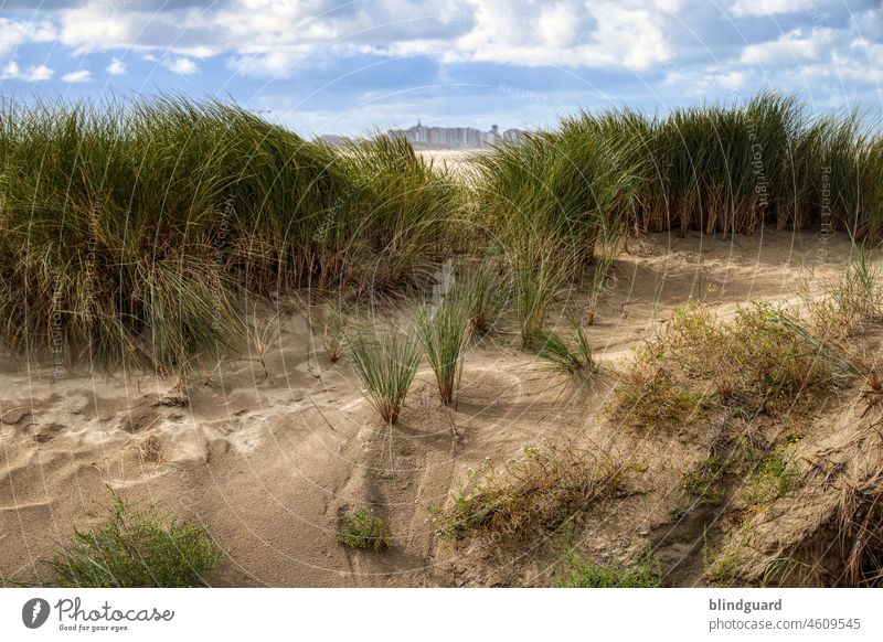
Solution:
{"label": "bare tan sand slope between the tall grass and low plants", "polygon": [[[588,335],[615,365],[688,298],[728,314],[751,299],[795,297],[842,270],[848,253],[844,237],[820,248],[786,232],[631,240]],[[108,503],[108,488],[206,523],[230,554],[220,585],[543,584],[544,554],[531,557],[529,547],[474,564],[475,552],[436,541],[427,507],[485,458],[506,459],[544,438],[592,441],[646,468],[642,492],[599,506],[597,526],[582,536],[599,559],[616,559],[664,518],[683,462],[701,451],[670,436],[611,430],[596,419],[614,370],[575,393],[519,353],[514,335],[468,354],[456,411],[439,407],[424,364],[390,434],[345,360],[331,364],[322,353],[309,308],[289,303],[268,377],[256,360],[225,362],[194,377],[180,407],[160,403],[173,381],[81,371],[53,382],[49,368],[4,359],[0,584],[40,579],[39,558]],[[341,512],[365,503],[390,521],[392,550],[336,543]]]}

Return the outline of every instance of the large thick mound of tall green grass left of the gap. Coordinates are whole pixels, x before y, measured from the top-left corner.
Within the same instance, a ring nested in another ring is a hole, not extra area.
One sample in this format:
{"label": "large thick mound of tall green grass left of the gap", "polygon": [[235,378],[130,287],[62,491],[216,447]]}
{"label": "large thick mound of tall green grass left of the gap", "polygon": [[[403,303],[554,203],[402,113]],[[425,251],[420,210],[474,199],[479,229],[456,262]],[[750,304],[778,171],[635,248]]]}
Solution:
{"label": "large thick mound of tall green grass left of the gap", "polygon": [[340,151],[178,97],[3,101],[0,194],[0,340],[163,368],[241,343],[244,293],[415,282],[460,206],[402,140]]}

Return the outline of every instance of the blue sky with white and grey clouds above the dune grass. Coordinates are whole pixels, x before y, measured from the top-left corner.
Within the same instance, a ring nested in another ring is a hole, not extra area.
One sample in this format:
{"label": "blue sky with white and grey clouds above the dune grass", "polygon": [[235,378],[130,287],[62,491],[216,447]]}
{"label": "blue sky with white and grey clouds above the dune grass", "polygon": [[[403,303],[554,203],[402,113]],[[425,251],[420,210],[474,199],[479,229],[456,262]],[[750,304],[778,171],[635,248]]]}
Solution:
{"label": "blue sky with white and grey clouds above the dune grass", "polygon": [[765,87],[880,114],[880,0],[0,0],[3,97],[219,96],[305,135]]}

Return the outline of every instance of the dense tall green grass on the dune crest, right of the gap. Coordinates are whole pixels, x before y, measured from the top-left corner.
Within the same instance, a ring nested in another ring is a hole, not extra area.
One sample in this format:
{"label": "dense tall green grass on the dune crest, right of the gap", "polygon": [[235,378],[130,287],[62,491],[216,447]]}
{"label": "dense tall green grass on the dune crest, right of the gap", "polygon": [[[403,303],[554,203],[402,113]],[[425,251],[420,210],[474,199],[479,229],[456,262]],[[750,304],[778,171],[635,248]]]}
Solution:
{"label": "dense tall green grass on the dune crest, right of the gap", "polygon": [[581,111],[479,160],[477,200],[501,233],[584,258],[621,228],[751,234],[765,225],[883,233],[883,140],[858,113],[762,92],[660,117]]}

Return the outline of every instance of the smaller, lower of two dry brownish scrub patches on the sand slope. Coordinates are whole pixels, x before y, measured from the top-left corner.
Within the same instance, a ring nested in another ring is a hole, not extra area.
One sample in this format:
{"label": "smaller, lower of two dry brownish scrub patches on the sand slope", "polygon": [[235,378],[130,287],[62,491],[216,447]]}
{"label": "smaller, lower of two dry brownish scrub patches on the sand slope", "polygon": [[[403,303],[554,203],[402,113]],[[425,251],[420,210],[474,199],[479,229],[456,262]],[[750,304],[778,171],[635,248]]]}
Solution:
{"label": "smaller, lower of two dry brownish scrub patches on the sand slope", "polygon": [[443,537],[467,534],[518,539],[538,527],[555,528],[616,488],[623,467],[606,453],[567,445],[525,446],[522,457],[502,467],[487,461],[467,471],[447,506],[435,509]]}

